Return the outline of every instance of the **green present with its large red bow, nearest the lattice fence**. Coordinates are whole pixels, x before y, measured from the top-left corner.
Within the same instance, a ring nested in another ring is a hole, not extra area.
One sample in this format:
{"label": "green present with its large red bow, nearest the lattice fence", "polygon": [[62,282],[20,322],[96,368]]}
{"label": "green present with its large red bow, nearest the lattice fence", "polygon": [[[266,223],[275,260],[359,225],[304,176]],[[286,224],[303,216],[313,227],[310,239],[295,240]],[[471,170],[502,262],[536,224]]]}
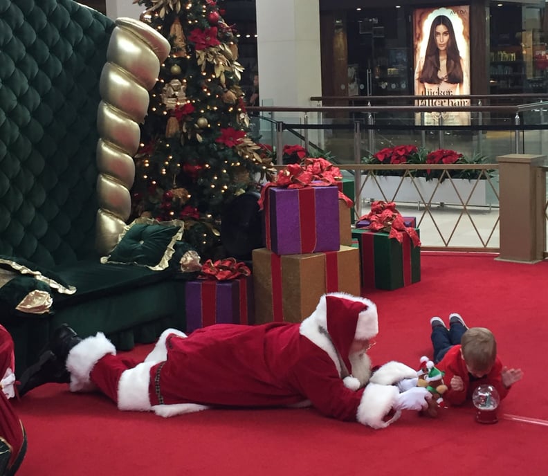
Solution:
{"label": "green present with its large red bow, nearest the lattice fence", "polygon": [[[364,289],[398,289],[421,280],[421,241],[414,217],[402,217],[393,202],[376,201],[352,237],[360,250]],[[357,223],[356,223],[357,225]]]}

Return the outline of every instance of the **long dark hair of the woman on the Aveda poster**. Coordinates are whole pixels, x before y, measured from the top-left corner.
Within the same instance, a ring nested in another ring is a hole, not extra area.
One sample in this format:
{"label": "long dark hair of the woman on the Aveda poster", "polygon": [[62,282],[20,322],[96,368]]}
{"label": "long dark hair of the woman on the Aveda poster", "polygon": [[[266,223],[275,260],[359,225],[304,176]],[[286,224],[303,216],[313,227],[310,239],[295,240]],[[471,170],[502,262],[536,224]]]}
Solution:
{"label": "long dark hair of the woman on the Aveda poster", "polygon": [[459,46],[455,39],[455,30],[453,24],[446,15],[438,15],[432,21],[430,27],[430,36],[426,45],[426,54],[424,57],[424,65],[419,76],[420,82],[429,84],[440,84],[441,78],[438,77],[439,71],[439,50],[436,43],[436,28],[439,25],[444,25],[449,32],[449,42],[447,44],[447,82],[451,84],[459,84],[462,82],[464,74],[462,72],[461,58]]}

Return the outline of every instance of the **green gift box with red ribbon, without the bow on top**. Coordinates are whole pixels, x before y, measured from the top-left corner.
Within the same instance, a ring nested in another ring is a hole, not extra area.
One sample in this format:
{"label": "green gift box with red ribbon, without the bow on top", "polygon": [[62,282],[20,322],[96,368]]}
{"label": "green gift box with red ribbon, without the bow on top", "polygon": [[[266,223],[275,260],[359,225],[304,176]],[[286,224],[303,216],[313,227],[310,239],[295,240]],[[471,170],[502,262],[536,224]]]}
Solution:
{"label": "green gift box with red ribbon, without the bow on top", "polygon": [[[417,230],[419,234],[419,230]],[[385,232],[363,228],[352,232],[360,248],[360,275],[363,289],[402,288],[421,280],[421,248],[413,246],[406,233],[403,243]]]}

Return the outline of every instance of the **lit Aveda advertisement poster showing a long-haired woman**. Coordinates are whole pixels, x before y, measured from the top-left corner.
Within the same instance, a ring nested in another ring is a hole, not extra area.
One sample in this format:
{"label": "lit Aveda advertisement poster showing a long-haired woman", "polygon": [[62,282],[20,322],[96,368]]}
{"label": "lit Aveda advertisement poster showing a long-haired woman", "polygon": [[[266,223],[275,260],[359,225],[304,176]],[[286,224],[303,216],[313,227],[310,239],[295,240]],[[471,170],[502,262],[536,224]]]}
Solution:
{"label": "lit Aveda advertisement poster showing a long-haired woman", "polygon": [[[417,106],[460,107],[470,100],[453,98],[470,94],[469,7],[419,8],[413,14],[414,94],[424,98]],[[444,98],[432,98],[444,96]],[[470,125],[470,113],[427,112],[425,125]],[[421,124],[421,114],[415,116]]]}

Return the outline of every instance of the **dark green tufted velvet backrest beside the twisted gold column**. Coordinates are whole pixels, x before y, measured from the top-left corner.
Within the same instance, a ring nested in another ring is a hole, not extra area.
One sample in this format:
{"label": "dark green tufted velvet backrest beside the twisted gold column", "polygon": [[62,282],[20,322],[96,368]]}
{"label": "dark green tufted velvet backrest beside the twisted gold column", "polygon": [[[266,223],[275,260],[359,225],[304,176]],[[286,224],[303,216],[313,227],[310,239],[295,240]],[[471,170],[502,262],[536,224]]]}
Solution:
{"label": "dark green tufted velvet backrest beside the twisted gold column", "polygon": [[93,254],[113,26],[72,0],[0,0],[0,253],[43,266]]}

